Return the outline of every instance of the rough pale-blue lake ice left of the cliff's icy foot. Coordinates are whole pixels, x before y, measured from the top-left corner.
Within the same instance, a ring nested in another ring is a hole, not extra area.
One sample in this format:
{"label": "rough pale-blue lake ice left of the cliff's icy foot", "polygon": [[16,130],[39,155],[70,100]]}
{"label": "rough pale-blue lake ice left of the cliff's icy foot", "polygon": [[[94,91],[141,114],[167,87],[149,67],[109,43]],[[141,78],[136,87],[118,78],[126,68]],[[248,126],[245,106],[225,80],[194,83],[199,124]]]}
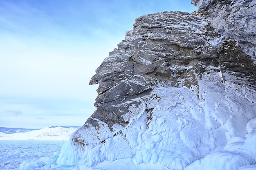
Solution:
{"label": "rough pale-blue lake ice left of the cliff's icy foot", "polygon": [[0,141],[0,170],[67,170],[56,164],[65,141]]}

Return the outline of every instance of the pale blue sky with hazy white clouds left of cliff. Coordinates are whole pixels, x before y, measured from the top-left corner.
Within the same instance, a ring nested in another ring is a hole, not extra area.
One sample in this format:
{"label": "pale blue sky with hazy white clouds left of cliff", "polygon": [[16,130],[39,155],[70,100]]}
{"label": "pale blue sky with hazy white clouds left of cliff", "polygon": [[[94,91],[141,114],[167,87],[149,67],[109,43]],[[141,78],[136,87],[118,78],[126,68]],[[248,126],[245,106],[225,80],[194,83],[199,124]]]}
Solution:
{"label": "pale blue sky with hazy white clouds left of cliff", "polygon": [[82,126],[95,70],[135,18],[193,12],[190,0],[1,0],[0,127]]}

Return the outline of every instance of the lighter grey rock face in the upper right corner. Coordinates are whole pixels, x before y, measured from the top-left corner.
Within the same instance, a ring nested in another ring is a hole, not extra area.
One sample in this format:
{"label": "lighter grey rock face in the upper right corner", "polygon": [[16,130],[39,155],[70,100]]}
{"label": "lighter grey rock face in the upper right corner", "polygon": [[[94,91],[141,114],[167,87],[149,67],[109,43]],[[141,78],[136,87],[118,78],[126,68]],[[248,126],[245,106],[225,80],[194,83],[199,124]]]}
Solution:
{"label": "lighter grey rock face in the upper right corner", "polygon": [[255,0],[192,0],[191,3],[208,11],[215,31],[238,42],[256,64]]}

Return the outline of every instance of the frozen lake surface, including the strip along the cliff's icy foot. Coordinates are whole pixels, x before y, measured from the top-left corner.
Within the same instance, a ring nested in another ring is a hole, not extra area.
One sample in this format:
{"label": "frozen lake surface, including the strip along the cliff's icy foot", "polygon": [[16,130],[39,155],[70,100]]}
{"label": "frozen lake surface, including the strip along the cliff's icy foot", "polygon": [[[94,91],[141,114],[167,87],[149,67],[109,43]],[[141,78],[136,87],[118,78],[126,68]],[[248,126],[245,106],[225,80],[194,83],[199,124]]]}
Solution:
{"label": "frozen lake surface, including the strip along the cliff's icy foot", "polygon": [[[104,161],[88,167],[58,166],[63,143],[69,141],[0,141],[0,170],[167,170],[161,164],[135,166],[130,159]],[[214,165],[213,165],[214,166]],[[239,170],[255,170],[255,165]]]}

